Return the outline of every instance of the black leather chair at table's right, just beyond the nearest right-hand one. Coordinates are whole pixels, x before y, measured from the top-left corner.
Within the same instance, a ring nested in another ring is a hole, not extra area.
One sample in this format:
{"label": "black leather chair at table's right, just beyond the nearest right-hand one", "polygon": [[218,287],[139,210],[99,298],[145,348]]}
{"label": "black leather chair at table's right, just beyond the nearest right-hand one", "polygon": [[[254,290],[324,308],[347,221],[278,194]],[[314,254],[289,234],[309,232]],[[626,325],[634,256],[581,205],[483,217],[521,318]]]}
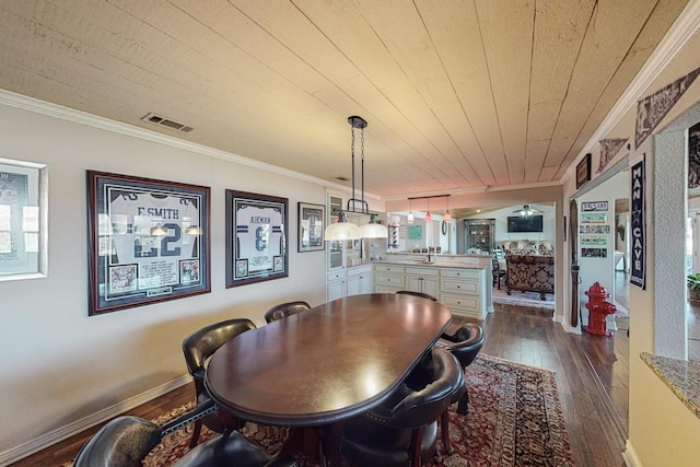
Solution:
{"label": "black leather chair at table's right, just beyond the nearest right-hand one", "polygon": [[[452,353],[462,371],[474,362],[479,351],[486,342],[483,328],[476,323],[467,323],[460,326],[454,334],[443,334],[436,343],[436,347],[447,350]],[[466,415],[469,412],[469,392],[465,386],[463,390],[455,393],[452,402],[457,402],[457,413]],[[442,444],[445,453],[452,454],[453,448],[450,443],[450,411],[445,410],[440,418],[440,429],[442,433]]]}

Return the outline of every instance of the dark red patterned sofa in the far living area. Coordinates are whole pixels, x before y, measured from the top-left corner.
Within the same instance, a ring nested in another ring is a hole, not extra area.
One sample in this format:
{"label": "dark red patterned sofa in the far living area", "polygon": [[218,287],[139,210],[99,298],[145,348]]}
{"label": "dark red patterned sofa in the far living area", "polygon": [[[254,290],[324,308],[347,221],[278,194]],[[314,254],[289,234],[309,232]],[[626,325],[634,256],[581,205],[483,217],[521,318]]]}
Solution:
{"label": "dark red patterned sofa in the far living area", "polygon": [[[503,242],[505,253],[505,288],[537,292],[541,300],[555,293],[555,255],[550,242]],[[508,248],[506,248],[508,246]]]}

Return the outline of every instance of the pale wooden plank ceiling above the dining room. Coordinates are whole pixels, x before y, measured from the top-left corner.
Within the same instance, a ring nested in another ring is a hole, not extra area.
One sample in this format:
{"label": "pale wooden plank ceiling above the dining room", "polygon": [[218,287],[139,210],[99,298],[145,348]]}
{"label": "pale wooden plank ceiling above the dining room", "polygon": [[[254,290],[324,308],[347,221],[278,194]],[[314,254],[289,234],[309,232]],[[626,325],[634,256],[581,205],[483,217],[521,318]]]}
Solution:
{"label": "pale wooden plank ceiling above the dining room", "polygon": [[360,115],[385,197],[547,184],[686,3],[5,1],[0,87],[331,182]]}

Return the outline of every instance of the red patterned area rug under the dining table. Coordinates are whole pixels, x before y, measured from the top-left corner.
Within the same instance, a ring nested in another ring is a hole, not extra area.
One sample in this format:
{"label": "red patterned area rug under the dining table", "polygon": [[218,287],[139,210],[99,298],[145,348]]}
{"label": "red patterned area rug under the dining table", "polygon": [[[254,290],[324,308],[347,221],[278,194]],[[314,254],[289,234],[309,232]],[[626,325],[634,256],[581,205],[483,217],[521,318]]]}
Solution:
{"label": "red patterned area rug under the dining table", "polygon": [[[553,372],[481,354],[467,367],[466,376],[469,413],[460,416],[451,408],[450,437],[455,452],[443,455],[442,465],[574,465]],[[184,410],[186,407],[155,421],[163,423]],[[190,424],[166,436],[143,465],[173,465],[187,452],[191,429]],[[269,453],[279,451],[288,433],[285,429],[254,423],[243,432]],[[215,435],[203,428],[201,440]],[[443,453],[441,441],[438,450]],[[302,456],[298,460],[301,467],[314,466]],[[349,467],[345,459],[343,467]]]}

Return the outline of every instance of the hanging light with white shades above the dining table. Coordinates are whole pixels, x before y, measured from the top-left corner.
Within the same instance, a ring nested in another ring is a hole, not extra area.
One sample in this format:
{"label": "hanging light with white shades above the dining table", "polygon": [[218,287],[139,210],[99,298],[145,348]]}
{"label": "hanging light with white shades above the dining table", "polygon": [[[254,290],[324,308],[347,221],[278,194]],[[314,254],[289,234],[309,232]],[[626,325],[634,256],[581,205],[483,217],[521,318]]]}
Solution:
{"label": "hanging light with white shades above the dining table", "polygon": [[[347,212],[354,212],[360,214],[370,215],[370,223],[359,227],[357,224],[352,222],[348,222],[348,218],[346,217],[346,212],[340,212],[338,215],[338,222],[335,222],[326,227],[324,231],[324,236],[327,241],[345,241],[345,240],[357,240],[362,237],[368,238],[386,238],[388,237],[388,231],[385,225],[382,225],[376,220],[376,214],[370,214],[370,209],[368,202],[364,200],[364,129],[368,126],[368,122],[364,118],[352,116],[348,117],[348,122],[351,127],[351,137],[352,142],[350,144],[350,152],[352,156],[352,198],[348,200]],[[354,197],[354,130],[360,129],[361,138],[362,138],[362,147],[361,147],[361,155],[362,155],[362,186],[361,194],[362,198],[357,199]],[[360,211],[357,210],[357,203],[360,203]],[[352,203],[352,209],[350,209],[350,203]]]}

